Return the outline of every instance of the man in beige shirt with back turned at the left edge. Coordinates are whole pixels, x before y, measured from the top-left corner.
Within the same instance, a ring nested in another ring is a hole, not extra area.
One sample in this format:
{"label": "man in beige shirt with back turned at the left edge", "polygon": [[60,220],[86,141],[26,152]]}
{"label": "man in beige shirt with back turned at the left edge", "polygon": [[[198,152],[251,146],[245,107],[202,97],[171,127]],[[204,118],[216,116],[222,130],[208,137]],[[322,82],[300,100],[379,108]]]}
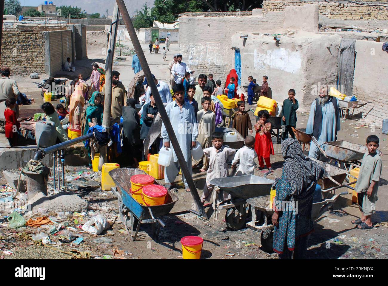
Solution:
{"label": "man in beige shirt with back turned at the left edge", "polygon": [[[0,78],[0,125],[3,126],[5,124],[5,100],[8,98],[15,98],[17,100],[17,96],[21,95],[17,83],[15,80],[10,79],[9,75],[11,74],[9,67],[2,66],[0,68],[2,77]],[[14,109],[12,109],[16,118],[19,117],[19,105],[15,105]]]}

